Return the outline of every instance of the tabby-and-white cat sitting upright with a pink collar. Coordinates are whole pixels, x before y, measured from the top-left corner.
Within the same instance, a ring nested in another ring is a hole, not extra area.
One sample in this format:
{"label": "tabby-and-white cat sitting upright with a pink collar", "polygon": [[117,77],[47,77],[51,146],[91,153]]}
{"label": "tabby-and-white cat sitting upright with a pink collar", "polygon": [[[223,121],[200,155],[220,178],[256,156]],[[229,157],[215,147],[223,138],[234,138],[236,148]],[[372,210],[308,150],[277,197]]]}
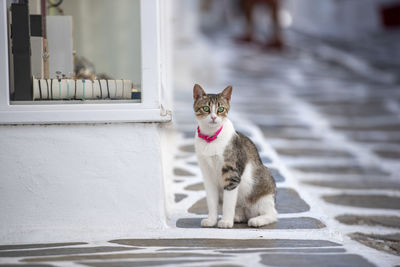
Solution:
{"label": "tabby-and-white cat sitting upright with a pink collar", "polygon": [[222,200],[219,228],[234,222],[260,227],[277,221],[275,180],[260,159],[254,143],[236,132],[227,118],[232,86],[207,94],[195,84],[193,109],[198,122],[195,150],[203,174],[208,218],[202,227],[214,227]]}

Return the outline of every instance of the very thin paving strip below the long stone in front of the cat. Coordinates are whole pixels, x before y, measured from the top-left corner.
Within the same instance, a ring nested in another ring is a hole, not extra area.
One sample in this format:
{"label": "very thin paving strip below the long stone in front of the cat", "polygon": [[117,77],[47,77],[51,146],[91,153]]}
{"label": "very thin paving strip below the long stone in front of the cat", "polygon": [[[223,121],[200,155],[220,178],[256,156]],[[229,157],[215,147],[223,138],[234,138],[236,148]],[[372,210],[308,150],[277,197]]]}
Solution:
{"label": "very thin paving strip below the long stone in front of the cat", "polygon": [[230,250],[219,250],[221,253],[340,253],[346,252],[344,248],[276,248],[276,249],[230,249]]}

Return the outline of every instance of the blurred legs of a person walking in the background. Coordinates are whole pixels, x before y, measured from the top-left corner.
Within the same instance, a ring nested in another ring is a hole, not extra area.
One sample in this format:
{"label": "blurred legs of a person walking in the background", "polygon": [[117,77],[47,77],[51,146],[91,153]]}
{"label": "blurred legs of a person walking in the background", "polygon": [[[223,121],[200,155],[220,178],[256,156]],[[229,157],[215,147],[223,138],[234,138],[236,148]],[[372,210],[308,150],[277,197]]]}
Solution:
{"label": "blurred legs of a person walking in the background", "polygon": [[245,34],[236,38],[239,42],[255,42],[254,9],[257,4],[266,4],[271,12],[272,19],[272,38],[263,43],[262,46],[267,49],[282,49],[283,40],[281,33],[281,24],[279,20],[280,0],[242,0],[242,8],[246,19]]}

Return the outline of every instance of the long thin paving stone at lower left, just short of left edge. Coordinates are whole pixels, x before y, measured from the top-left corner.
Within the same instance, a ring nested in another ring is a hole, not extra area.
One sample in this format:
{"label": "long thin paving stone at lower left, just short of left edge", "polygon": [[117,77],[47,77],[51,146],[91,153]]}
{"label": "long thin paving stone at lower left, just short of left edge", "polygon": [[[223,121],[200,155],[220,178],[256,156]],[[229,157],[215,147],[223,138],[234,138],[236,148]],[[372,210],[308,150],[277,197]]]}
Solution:
{"label": "long thin paving stone at lower left, just short of left edge", "polygon": [[117,254],[96,254],[96,255],[73,255],[61,257],[26,258],[23,262],[54,262],[54,261],[83,261],[83,260],[118,260],[118,259],[156,259],[156,258],[225,258],[228,255],[201,254],[190,252],[160,252],[160,253],[117,253]]}

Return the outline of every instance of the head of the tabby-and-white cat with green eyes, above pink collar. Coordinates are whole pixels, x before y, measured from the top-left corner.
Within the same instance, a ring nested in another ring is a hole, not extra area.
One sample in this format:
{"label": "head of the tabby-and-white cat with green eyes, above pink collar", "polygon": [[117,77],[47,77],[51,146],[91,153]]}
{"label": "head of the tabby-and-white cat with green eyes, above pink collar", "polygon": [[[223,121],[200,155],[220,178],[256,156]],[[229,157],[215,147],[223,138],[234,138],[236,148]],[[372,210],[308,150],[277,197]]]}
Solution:
{"label": "head of the tabby-and-white cat with green eyes, above pink collar", "polygon": [[232,86],[219,94],[207,94],[200,85],[193,88],[193,109],[200,127],[219,128],[229,112]]}

